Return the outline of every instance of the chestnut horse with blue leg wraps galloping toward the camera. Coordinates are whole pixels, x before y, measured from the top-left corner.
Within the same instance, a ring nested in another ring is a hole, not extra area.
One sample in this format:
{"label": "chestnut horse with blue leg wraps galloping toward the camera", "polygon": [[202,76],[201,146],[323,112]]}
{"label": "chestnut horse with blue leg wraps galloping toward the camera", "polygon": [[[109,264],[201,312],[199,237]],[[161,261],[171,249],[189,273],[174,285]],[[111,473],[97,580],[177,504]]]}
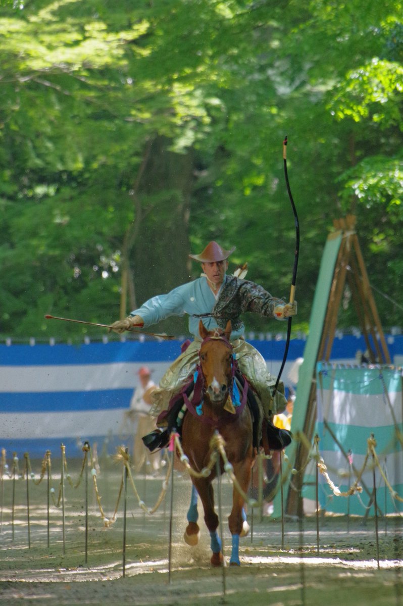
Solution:
{"label": "chestnut horse with blue leg wraps galloping toward the camera", "polygon": [[[236,364],[230,344],[231,322],[225,330],[207,331],[202,322],[199,324],[202,338],[198,372],[202,377],[202,401],[195,410],[185,415],[182,425],[182,448],[193,469],[201,471],[210,462],[210,441],[218,430],[225,442],[225,453],[242,490],[246,493],[250,484],[251,465],[255,459],[253,448],[252,418],[245,401],[242,405],[234,396],[234,374]],[[235,388],[237,389],[237,388]],[[235,404],[236,407],[233,405]],[[224,408],[225,407],[225,408]],[[188,407],[189,408],[189,407]],[[227,409],[227,410],[226,410]],[[191,414],[192,413],[192,414]],[[221,473],[224,464],[221,459]],[[204,508],[204,521],[210,531],[210,546],[213,551],[211,564],[223,564],[222,545],[218,535],[218,515],[214,506],[214,491],[211,482],[216,477],[216,466],[207,478],[192,476],[192,502],[187,514],[188,525],[185,530],[185,541],[195,545],[199,538],[197,524],[197,498],[201,498]],[[232,535],[232,552],[230,565],[239,565],[239,536],[248,532],[244,511],[244,499],[236,488],[233,488],[232,509],[228,517]]]}

